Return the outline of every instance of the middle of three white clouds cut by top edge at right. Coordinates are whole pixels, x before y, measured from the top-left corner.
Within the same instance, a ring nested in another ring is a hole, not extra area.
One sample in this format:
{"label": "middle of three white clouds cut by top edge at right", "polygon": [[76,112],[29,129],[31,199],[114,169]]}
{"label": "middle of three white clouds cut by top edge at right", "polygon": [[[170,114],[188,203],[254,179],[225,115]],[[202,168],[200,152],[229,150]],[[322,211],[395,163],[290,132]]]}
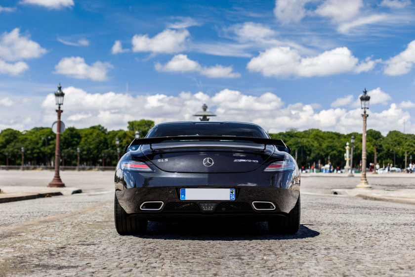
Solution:
{"label": "middle of three white clouds cut by top edge at right", "polygon": [[358,15],[362,6],[362,0],[326,0],[316,9],[316,13],[330,17],[333,22],[341,22]]}

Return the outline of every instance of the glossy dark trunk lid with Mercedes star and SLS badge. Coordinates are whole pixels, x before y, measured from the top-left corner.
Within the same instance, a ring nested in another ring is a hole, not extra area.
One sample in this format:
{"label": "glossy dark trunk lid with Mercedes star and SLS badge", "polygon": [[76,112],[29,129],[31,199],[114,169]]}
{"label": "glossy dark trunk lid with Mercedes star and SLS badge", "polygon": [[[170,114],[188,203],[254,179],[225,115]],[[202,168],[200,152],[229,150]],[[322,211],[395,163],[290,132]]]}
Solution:
{"label": "glossy dark trunk lid with Mercedes star and SLS badge", "polygon": [[251,142],[180,141],[153,144],[151,148],[144,144],[141,151],[163,171],[239,173],[255,170],[267,162],[275,147]]}

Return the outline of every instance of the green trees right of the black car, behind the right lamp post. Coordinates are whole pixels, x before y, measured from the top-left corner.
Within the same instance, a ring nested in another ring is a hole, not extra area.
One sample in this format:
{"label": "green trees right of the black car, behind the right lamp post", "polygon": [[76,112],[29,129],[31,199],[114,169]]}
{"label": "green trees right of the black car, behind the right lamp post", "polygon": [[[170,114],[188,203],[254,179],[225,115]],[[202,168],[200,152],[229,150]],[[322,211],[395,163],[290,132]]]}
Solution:
{"label": "green trees right of the black car, behind the right lamp post", "polygon": [[[287,132],[270,134],[272,139],[283,139],[291,148],[291,155],[297,154],[298,166],[311,168],[331,162],[334,168],[339,169],[345,166],[346,143],[351,147],[351,137],[355,137],[353,148],[353,168],[361,166],[362,159],[362,134],[349,133],[340,134],[337,132],[321,131],[319,129],[308,129],[297,131],[291,129]],[[409,164],[412,155],[415,161],[415,135],[403,134],[399,131],[390,131],[382,136],[379,131],[367,130],[366,133],[367,166],[374,163],[374,152],[376,149],[376,161],[380,167],[383,164],[394,164],[399,168],[405,167],[405,153]],[[350,150],[349,150],[350,153]]]}

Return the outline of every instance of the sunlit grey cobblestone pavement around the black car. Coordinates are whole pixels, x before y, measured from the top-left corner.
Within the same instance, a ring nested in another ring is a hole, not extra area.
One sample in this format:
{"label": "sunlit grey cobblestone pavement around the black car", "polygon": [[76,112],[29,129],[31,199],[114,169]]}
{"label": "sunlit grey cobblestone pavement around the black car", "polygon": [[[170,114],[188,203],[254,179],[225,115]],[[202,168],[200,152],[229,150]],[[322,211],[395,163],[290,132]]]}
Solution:
{"label": "sunlit grey cobblestone pavement around the black car", "polygon": [[146,235],[120,236],[111,180],[82,194],[3,203],[0,277],[414,276],[415,205],[325,195],[326,182],[343,179],[302,179],[295,235],[270,235],[266,223],[151,222]]}

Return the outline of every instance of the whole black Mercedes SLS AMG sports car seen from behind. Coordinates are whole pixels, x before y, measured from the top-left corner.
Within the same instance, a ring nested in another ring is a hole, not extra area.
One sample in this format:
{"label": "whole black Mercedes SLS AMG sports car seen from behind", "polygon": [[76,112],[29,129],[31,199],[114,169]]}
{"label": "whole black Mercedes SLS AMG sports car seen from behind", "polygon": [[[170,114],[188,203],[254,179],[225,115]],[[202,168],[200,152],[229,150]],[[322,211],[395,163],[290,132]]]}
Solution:
{"label": "whole black Mercedes SLS AMG sports car seen from behind", "polygon": [[298,166],[290,148],[258,125],[163,123],[125,148],[115,174],[120,234],[143,234],[148,221],[215,218],[298,231]]}

